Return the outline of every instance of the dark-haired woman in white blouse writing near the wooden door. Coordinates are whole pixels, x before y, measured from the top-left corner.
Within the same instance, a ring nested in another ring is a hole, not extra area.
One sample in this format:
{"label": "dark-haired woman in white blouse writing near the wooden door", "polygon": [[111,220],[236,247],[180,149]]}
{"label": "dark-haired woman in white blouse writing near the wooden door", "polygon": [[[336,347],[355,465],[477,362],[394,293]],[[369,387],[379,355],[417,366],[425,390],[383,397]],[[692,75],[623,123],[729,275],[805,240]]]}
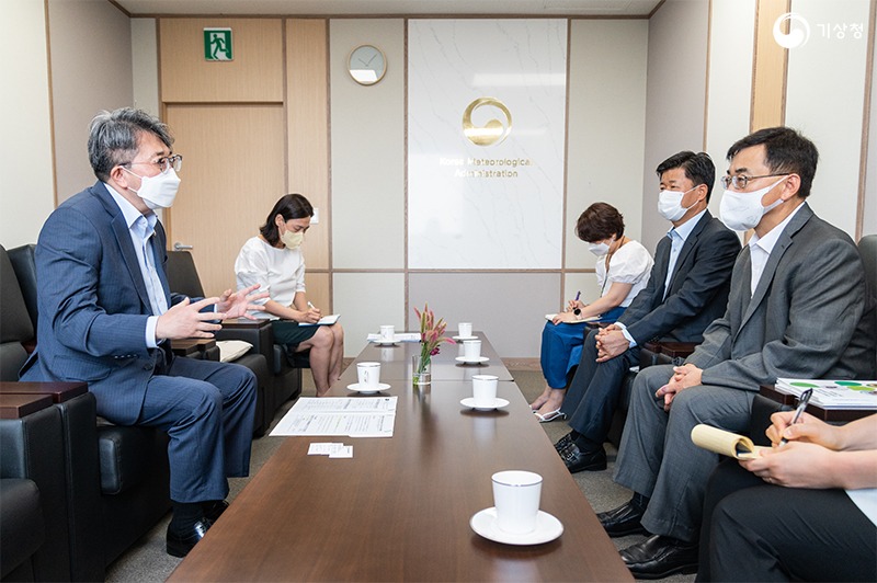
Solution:
{"label": "dark-haired woman in white blouse writing near the wooden door", "polygon": [[341,324],[316,324],[321,317],[305,296],[305,256],[301,241],[310,227],[314,208],[300,194],[287,194],[269,213],[259,236],[249,239],[235,261],[238,289],[259,284],[267,292],[265,311],[257,318],[273,320],[274,340],[288,351],[310,350],[310,371],[317,396],[324,395],[341,376],[344,356],[344,330]]}

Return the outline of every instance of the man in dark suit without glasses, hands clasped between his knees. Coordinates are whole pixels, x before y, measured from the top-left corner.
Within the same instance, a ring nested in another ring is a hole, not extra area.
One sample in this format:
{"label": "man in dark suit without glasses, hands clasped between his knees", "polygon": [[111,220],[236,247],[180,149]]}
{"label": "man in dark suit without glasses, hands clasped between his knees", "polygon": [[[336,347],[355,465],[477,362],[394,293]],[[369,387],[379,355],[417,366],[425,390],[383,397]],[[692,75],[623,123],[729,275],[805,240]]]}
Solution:
{"label": "man in dark suit without glasses, hands clasped between his knees", "polygon": [[649,285],[615,324],[584,341],[562,407],[572,432],[555,446],[571,472],[606,468],[603,442],[627,369],[639,364],[639,346],[653,339],[701,342],[728,301],[740,240],[706,208],[716,181],[713,160],[683,151],[656,172],[658,210],[673,228],[658,243]]}

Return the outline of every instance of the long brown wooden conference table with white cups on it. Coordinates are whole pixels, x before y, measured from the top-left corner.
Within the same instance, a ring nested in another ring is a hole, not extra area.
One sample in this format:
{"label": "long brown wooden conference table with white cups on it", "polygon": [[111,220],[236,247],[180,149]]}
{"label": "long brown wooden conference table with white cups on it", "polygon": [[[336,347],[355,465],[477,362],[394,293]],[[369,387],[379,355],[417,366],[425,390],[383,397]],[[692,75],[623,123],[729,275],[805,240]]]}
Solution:
{"label": "long brown wooden conference table with white cups on it", "polygon": [[[483,334],[486,365],[433,357],[432,384],[411,384],[417,343],[366,346],[381,395],[398,396],[391,438],[286,437],[170,581],[631,581],[615,546]],[[349,397],[352,364],[329,396]],[[509,405],[464,408],[472,374],[502,379]],[[264,437],[276,439],[281,437]],[[308,456],[310,443],[353,445],[352,459]],[[490,477],[543,477],[540,508],[563,534],[536,546],[488,540],[469,518],[493,505]]]}

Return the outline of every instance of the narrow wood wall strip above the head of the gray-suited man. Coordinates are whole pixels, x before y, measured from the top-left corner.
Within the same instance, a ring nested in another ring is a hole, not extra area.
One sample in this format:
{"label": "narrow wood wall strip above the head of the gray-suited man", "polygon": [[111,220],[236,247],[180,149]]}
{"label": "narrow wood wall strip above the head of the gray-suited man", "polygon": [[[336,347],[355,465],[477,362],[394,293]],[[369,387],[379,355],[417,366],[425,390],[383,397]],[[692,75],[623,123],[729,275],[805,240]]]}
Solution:
{"label": "narrow wood wall strip above the head of the gray-suited man", "polygon": [[751,132],[785,123],[788,52],[776,43],[773,28],[776,19],[789,11],[789,1],[759,0],[755,14]]}

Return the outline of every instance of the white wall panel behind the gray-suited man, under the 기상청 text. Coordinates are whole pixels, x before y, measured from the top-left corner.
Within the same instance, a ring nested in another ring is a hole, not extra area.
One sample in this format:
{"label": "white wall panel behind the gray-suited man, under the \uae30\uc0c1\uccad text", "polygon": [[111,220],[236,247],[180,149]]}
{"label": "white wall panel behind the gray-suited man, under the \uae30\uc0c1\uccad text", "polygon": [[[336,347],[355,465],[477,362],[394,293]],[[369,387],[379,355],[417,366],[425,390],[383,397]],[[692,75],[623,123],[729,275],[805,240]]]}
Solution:
{"label": "white wall panel behind the gray-suited man, under the \uae30\uc0c1\uccad text", "polygon": [[788,52],[786,125],[819,148],[810,206],[855,237],[869,2],[794,0],[791,11],[810,36]]}

